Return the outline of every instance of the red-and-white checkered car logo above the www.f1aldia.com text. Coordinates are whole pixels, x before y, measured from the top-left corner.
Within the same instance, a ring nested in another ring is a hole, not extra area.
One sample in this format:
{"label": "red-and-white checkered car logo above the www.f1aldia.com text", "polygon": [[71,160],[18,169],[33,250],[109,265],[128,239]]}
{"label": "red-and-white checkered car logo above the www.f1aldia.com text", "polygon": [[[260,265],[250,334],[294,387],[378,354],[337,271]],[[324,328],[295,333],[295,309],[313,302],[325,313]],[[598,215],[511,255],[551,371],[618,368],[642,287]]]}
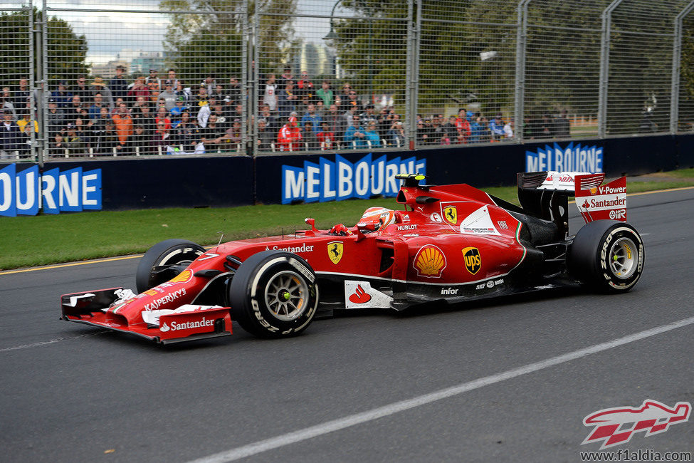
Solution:
{"label": "red-and-white checkered car logo above the www.f1aldia.com text", "polygon": [[646,432],[648,437],[686,422],[691,411],[689,402],[677,402],[671,408],[656,400],[644,400],[641,407],[598,410],[583,419],[585,426],[595,428],[581,444],[602,442],[600,449],[626,444],[636,432]]}

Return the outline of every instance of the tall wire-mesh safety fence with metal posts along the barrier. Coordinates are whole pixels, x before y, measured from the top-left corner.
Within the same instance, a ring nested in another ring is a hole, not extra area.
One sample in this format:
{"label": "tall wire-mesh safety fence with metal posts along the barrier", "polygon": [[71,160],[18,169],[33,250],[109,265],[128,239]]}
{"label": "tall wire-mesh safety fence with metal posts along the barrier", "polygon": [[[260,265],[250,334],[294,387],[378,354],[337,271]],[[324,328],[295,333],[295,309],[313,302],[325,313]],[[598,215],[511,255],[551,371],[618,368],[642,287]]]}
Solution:
{"label": "tall wire-mesh safety fence with metal posts along the barrier", "polygon": [[20,129],[3,156],[693,132],[693,9],[692,0],[2,0],[4,117]]}

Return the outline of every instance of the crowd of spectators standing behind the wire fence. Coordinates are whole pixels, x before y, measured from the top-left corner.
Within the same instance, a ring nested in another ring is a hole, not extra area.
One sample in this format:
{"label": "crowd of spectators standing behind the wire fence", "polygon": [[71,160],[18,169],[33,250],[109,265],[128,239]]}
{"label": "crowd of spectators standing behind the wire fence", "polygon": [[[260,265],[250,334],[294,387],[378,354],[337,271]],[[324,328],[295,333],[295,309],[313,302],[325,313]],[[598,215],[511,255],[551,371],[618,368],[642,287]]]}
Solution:
{"label": "crowd of spectators standing behind the wire fence", "polygon": [[[403,147],[407,130],[394,108],[364,101],[349,83],[339,89],[330,80],[313,83],[302,71],[285,68],[280,76],[262,79],[256,125],[256,150],[302,151]],[[149,155],[172,152],[202,153],[238,150],[242,140],[243,93],[238,79],[207,76],[199,85],[186,85],[169,69],[159,76],[128,82],[117,66],[108,81],[77,76],[49,89],[46,130],[50,155]],[[0,151],[28,155],[31,140],[30,90],[21,79],[16,91],[4,88],[0,111],[4,129]],[[38,125],[34,121],[34,128]],[[566,111],[554,118],[524,120],[526,139],[568,137]],[[502,141],[513,137],[512,118],[501,113],[487,118],[466,109],[448,118],[416,115],[417,145],[457,145]],[[249,137],[249,140],[251,138]]]}

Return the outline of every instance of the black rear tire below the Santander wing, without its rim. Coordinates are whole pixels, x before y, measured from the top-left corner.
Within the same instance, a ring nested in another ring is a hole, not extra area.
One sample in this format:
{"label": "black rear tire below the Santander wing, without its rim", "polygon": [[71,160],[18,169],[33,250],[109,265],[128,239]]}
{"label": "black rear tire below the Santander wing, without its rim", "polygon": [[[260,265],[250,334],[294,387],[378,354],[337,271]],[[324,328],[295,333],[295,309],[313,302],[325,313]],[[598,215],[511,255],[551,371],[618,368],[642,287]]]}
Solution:
{"label": "black rear tire below the Santander wing, without its rim", "polygon": [[[628,278],[620,278],[610,265],[611,246],[619,239],[629,239],[636,249],[635,266]],[[626,222],[596,220],[586,224],[574,237],[569,249],[569,274],[595,291],[621,293],[636,285],[643,274],[646,257],[638,231]]]}

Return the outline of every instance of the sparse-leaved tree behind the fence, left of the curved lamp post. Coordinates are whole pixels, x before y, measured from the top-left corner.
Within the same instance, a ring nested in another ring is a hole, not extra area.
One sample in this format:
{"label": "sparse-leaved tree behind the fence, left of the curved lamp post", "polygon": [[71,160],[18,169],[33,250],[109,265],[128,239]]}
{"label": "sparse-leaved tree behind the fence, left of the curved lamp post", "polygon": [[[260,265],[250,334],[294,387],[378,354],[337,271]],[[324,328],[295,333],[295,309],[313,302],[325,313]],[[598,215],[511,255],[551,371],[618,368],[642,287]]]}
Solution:
{"label": "sparse-leaved tree behind the fence, left of the curved lamp post", "polygon": [[[241,53],[246,39],[243,17],[252,21],[256,6],[260,19],[261,72],[289,62],[296,5],[292,0],[259,0],[248,3],[242,11],[241,1],[229,0],[162,0],[160,8],[169,11],[171,25],[164,41],[167,61],[186,79],[202,80],[207,74],[241,76]],[[177,11],[200,11],[179,14]],[[251,24],[248,24],[250,27]],[[252,44],[248,44],[252,50]],[[253,56],[249,56],[251,60]]]}

